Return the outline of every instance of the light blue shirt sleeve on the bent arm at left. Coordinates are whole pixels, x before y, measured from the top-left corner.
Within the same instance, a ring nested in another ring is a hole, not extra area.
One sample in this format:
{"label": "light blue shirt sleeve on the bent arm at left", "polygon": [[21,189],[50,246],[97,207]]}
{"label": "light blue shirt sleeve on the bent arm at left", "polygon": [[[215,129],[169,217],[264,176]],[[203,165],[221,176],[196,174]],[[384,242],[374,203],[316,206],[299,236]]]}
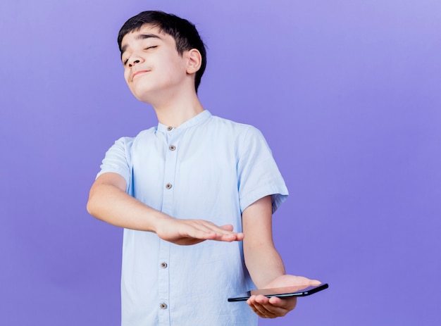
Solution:
{"label": "light blue shirt sleeve on the bent arm at left", "polygon": [[130,137],[118,139],[106,152],[97,177],[108,172],[118,173],[118,175],[121,175],[125,179],[127,184],[126,191],[128,191],[130,180],[132,180],[132,144],[133,139]]}

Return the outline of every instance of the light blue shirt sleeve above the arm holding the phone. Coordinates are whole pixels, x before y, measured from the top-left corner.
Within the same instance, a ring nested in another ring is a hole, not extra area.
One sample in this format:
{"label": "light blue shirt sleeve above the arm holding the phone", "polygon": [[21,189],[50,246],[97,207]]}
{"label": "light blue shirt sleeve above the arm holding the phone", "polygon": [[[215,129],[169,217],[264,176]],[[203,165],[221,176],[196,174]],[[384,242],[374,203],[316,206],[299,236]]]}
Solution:
{"label": "light blue shirt sleeve above the arm holding the phone", "polygon": [[238,144],[237,175],[240,210],[272,195],[273,213],[287,199],[285,181],[261,132],[249,126]]}

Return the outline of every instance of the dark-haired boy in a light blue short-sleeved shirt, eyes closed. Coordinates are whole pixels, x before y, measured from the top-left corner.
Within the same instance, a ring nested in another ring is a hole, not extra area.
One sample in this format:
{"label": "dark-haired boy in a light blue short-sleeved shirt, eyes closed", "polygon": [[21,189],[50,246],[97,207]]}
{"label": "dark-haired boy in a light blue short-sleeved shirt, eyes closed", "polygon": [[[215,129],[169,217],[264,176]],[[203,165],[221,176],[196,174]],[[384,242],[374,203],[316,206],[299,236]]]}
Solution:
{"label": "dark-haired boy in a light blue short-sleeved shirt, eyes closed", "polygon": [[128,87],[159,120],[108,150],[87,203],[125,229],[122,325],[285,315],[295,299],[227,301],[251,287],[319,283],[285,275],[273,246],[272,213],[288,193],[263,136],[201,106],[206,51],[192,23],[145,11],[123,25],[118,45]]}

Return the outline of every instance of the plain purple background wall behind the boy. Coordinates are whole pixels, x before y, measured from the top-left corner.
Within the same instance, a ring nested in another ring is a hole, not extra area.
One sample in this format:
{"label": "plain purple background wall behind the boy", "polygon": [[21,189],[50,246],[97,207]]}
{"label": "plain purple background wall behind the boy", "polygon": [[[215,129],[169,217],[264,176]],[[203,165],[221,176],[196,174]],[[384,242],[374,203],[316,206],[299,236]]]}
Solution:
{"label": "plain purple background wall behind the boy", "polygon": [[85,204],[156,125],[116,44],[147,9],[197,25],[202,104],[259,127],[290,189],[287,271],[330,283],[260,325],[441,325],[437,0],[1,1],[0,325],[119,325],[122,231]]}

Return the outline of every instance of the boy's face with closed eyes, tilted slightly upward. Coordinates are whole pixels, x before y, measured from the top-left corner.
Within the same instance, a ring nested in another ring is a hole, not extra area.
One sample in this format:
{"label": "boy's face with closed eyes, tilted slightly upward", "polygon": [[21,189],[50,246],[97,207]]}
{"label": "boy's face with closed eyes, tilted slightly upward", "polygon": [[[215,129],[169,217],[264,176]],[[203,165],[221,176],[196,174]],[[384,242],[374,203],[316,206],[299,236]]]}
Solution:
{"label": "boy's face with closed eyes, tilted slightly upward", "polygon": [[180,56],[175,39],[159,28],[143,25],[128,33],[121,49],[125,81],[139,101],[150,103],[152,95],[178,92],[185,84],[186,52]]}

